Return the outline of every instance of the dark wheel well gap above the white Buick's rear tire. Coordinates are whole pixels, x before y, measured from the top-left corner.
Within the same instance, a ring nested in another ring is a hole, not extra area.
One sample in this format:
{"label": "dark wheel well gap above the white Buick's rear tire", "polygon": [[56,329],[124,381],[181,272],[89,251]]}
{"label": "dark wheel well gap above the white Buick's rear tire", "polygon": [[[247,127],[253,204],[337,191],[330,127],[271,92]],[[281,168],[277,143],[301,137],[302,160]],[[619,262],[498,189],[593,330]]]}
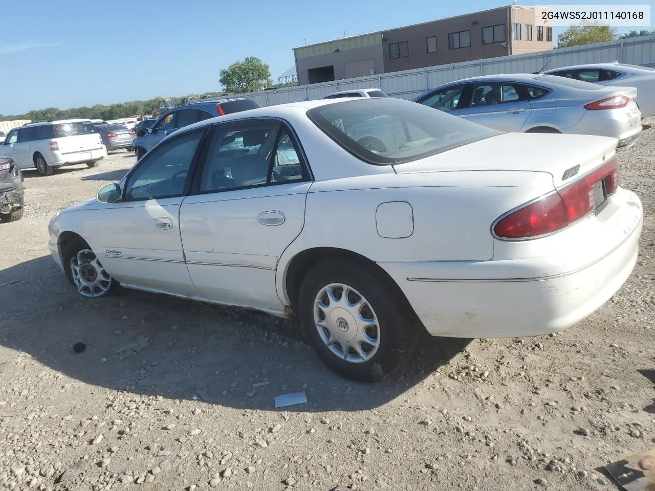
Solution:
{"label": "dark wheel well gap above the white Buick's rear tire", "polygon": [[387,283],[391,288],[394,288],[396,293],[400,295],[400,298],[404,299],[405,302],[407,302],[407,306],[409,306],[409,301],[398,284],[379,264],[375,263],[375,261],[371,261],[371,259],[356,252],[348,251],[348,249],[339,249],[337,247],[314,247],[302,251],[293,257],[286,271],[284,289],[291,300],[291,310],[293,312],[296,312],[297,310],[298,295],[300,293],[301,283],[303,283],[303,278],[305,278],[307,272],[309,272],[315,264],[328,259],[341,259],[343,261],[350,261],[365,266],[373,274],[378,276],[381,282]]}

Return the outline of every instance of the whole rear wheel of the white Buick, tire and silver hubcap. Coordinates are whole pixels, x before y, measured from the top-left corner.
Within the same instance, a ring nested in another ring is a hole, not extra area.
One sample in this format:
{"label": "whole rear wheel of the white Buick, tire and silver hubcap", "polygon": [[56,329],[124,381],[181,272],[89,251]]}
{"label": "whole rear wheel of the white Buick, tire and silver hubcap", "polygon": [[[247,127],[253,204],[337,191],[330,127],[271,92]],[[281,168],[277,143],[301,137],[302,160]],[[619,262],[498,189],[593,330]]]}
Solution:
{"label": "whole rear wheel of the white Buick, tire and silver hubcap", "polygon": [[417,320],[402,292],[370,267],[324,261],[300,287],[305,335],[333,371],[360,382],[398,373],[417,340]]}

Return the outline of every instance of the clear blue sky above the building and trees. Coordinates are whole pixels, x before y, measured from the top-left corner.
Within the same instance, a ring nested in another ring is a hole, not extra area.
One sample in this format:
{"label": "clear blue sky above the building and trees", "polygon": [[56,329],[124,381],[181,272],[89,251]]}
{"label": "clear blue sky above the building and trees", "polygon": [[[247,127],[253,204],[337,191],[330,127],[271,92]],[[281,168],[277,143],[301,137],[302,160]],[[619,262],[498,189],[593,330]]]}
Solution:
{"label": "clear blue sky above the building and trees", "polygon": [[[220,90],[219,70],[246,56],[269,64],[275,81],[293,66],[291,48],[305,40],[320,43],[344,31],[362,34],[509,3],[250,0],[228,3],[231,8],[215,0],[9,2],[0,18],[0,114]],[[538,5],[544,3],[555,1]],[[561,30],[555,29],[555,39]]]}

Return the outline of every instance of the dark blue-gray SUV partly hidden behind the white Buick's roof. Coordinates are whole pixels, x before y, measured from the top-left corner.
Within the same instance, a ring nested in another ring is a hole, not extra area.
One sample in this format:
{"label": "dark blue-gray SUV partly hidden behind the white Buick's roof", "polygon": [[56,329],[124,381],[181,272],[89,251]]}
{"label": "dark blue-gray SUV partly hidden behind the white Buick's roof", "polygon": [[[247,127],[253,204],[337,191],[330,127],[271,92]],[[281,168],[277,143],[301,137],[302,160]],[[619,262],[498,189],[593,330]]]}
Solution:
{"label": "dark blue-gray SUV partly hidden behind the white Buick's roof", "polygon": [[147,151],[165,136],[198,121],[223,116],[259,107],[252,99],[229,99],[223,101],[198,101],[179,105],[163,113],[151,128],[141,128],[134,140],[136,158],[140,159]]}

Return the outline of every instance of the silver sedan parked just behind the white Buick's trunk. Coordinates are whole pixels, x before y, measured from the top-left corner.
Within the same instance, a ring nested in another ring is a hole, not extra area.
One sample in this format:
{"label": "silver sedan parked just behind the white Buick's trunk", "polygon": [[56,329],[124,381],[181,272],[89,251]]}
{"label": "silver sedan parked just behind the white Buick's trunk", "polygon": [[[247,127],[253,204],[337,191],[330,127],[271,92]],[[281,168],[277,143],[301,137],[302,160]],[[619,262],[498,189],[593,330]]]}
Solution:
{"label": "silver sedan parked just behind the white Buick's trunk", "polygon": [[617,148],[641,134],[634,87],[607,87],[555,75],[472,77],[421,94],[415,102],[503,132],[611,136]]}

